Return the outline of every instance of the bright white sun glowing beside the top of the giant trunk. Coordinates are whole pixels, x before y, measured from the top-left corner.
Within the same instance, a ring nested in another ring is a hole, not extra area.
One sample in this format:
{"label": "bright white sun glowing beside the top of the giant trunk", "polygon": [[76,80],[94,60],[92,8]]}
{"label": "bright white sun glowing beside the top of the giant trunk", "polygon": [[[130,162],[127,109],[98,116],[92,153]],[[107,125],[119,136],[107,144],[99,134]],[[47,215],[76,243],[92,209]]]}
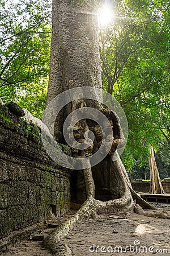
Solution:
{"label": "bright white sun glowing beside the top of the giant trunk", "polygon": [[113,10],[109,6],[103,6],[98,14],[98,20],[101,27],[108,26],[113,19]]}

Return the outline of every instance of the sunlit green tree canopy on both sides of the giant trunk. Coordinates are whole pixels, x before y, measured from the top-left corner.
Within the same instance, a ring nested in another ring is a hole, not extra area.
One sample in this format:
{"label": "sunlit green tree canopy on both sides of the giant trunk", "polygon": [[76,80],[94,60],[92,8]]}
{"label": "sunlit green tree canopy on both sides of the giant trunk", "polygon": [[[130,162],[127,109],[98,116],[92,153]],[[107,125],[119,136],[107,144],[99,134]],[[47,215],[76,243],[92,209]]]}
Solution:
{"label": "sunlit green tree canopy on both sides of the giant trunk", "polygon": [[[170,3],[110,2],[112,23],[100,31],[101,74],[103,88],[116,97],[128,118],[122,159],[130,171],[139,159],[146,164],[148,144],[162,158],[169,154]],[[45,0],[0,3],[0,97],[37,117],[44,111],[48,86],[50,5]]]}

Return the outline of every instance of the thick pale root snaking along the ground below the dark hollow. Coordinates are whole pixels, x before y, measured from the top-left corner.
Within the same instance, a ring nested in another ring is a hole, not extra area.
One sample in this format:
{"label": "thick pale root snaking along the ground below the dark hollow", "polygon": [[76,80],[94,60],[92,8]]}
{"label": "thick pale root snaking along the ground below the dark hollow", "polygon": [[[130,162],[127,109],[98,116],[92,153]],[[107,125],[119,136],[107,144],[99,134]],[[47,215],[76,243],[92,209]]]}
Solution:
{"label": "thick pale root snaking along the ground below the dark hollow", "polygon": [[[126,189],[124,196],[121,199],[109,200],[106,202],[94,199],[92,195],[88,196],[88,199],[84,202],[82,207],[61,225],[59,225],[48,237],[44,240],[44,246],[54,254],[59,255],[59,242],[67,236],[71,229],[74,228],[78,222],[94,218],[97,214],[126,214],[127,212],[132,212],[134,209],[134,201],[131,197],[129,189]],[[63,246],[63,245],[62,245]],[[61,253],[61,251],[60,251]],[[63,253],[60,255],[71,255],[67,246]]]}

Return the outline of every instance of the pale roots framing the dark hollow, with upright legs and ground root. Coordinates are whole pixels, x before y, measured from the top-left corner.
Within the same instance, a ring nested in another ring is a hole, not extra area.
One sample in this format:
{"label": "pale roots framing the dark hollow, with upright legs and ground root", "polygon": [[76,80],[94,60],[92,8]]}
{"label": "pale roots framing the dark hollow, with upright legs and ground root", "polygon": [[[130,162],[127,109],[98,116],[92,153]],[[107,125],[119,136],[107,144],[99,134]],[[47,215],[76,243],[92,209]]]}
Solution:
{"label": "pale roots framing the dark hollow, with upright legs and ground root", "polygon": [[[128,175],[126,174],[124,167],[120,160],[114,161],[117,170],[120,172],[120,178],[124,181],[124,195],[119,199],[113,199],[109,201],[99,201],[94,198],[94,186],[89,185],[89,180],[92,180],[91,169],[84,170],[86,172],[86,185],[88,191],[88,199],[82,204],[78,212],[74,216],[70,217],[59,225],[48,237],[44,240],[44,246],[52,251],[54,255],[59,255],[59,242],[67,236],[67,234],[74,228],[78,222],[88,219],[95,218],[98,214],[108,216],[108,214],[127,214],[133,212],[136,201],[142,208],[155,209],[152,205],[148,204],[143,200],[137,193],[131,188]],[[87,179],[88,178],[88,179]],[[90,183],[92,184],[92,183]],[[62,245],[63,246],[63,245]],[[71,255],[67,246],[60,251],[60,255]]]}

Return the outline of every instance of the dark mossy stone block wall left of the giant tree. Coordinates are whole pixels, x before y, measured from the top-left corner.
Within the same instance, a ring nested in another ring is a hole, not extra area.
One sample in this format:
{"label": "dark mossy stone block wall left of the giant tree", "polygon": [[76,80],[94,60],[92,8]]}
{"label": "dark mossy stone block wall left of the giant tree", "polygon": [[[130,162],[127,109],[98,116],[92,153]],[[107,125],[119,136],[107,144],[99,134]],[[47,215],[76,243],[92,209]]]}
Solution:
{"label": "dark mossy stone block wall left of the giant tree", "polygon": [[63,214],[70,201],[68,171],[46,154],[39,128],[14,113],[0,103],[0,240]]}

